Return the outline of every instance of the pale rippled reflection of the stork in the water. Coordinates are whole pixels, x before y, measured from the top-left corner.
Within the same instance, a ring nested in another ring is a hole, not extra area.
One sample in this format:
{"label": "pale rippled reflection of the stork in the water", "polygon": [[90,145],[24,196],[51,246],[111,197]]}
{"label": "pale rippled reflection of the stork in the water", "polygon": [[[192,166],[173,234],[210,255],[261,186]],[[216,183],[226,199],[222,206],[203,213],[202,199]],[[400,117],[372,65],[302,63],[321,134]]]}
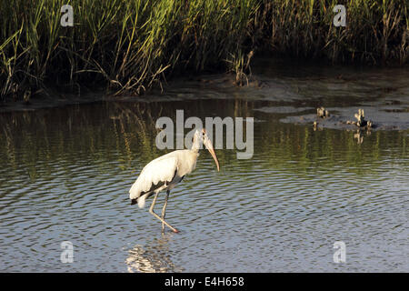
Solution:
{"label": "pale rippled reflection of the stork in the water", "polygon": [[182,267],[172,263],[169,241],[173,234],[162,235],[146,246],[136,245],[129,250],[126,265],[129,273],[182,272]]}

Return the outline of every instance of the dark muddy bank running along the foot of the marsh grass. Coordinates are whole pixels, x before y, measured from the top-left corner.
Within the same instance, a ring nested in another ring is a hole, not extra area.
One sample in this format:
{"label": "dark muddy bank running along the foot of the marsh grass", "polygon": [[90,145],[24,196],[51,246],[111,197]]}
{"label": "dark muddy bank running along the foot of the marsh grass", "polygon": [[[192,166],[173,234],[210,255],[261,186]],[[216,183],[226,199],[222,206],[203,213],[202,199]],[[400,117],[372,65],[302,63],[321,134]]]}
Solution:
{"label": "dark muddy bank running along the foot of the marsh grass", "polygon": [[[255,62],[248,85],[234,85],[234,75],[186,76],[153,89],[146,95],[60,95],[33,98],[30,104],[8,102],[1,112],[35,110],[95,101],[105,102],[194,102],[195,100],[242,99],[253,102],[254,117],[274,115],[283,123],[314,125],[317,128],[355,130],[354,114],[364,109],[373,130],[409,129],[409,69],[354,68],[289,64],[277,60]],[[330,112],[317,118],[316,108]]]}

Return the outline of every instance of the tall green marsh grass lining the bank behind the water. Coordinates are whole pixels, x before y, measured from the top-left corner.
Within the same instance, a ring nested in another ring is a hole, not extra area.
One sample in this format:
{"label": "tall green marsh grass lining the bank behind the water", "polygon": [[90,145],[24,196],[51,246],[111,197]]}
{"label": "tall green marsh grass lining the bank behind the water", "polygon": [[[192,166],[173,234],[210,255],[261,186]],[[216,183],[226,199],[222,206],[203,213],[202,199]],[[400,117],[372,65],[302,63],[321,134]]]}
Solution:
{"label": "tall green marsh grass lining the bank behind the water", "polygon": [[[74,27],[62,27],[62,5]],[[347,26],[334,27],[344,4]],[[106,85],[141,95],[168,75],[230,70],[245,85],[253,54],[381,64],[408,59],[407,1],[11,0],[0,4],[0,95]],[[250,55],[251,53],[251,55]]]}

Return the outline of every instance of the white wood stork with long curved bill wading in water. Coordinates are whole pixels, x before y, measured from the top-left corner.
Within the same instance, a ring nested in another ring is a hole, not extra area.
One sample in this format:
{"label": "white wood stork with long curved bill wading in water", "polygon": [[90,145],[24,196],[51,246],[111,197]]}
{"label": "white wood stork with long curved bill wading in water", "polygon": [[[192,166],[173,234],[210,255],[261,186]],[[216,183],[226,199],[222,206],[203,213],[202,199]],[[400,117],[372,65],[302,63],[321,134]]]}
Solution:
{"label": "white wood stork with long curved bill wading in water", "polygon": [[[207,150],[213,156],[217,171],[219,171],[219,161],[214,153],[212,141],[207,136],[205,129],[202,129],[202,131],[196,130],[191,149],[176,150],[164,156],[155,158],[155,160],[151,161],[144,167],[134,185],[129,190],[131,205],[137,203],[140,208],[145,206],[145,200],[148,197],[155,194],[149,212],[162,221],[162,231],[165,230],[166,225],[175,233],[179,232],[175,227],[170,226],[165,221],[167,199],[170,191],[176,186],[176,184],[182,181],[185,175],[190,174],[195,170],[197,157],[199,156],[199,149],[202,145],[205,145]],[[162,217],[160,217],[155,214],[154,206],[159,192],[164,190],[166,190],[165,205],[162,208]]]}

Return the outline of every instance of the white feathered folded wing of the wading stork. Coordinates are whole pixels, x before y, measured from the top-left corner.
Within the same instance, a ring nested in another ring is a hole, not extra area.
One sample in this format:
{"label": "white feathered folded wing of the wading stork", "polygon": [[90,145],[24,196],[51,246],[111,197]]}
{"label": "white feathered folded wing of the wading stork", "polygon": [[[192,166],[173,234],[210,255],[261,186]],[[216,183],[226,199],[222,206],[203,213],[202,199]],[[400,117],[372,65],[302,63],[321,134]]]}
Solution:
{"label": "white feathered folded wing of the wading stork", "polygon": [[176,156],[160,156],[147,164],[129,190],[129,197],[139,196],[155,191],[166,182],[170,183],[177,172]]}

